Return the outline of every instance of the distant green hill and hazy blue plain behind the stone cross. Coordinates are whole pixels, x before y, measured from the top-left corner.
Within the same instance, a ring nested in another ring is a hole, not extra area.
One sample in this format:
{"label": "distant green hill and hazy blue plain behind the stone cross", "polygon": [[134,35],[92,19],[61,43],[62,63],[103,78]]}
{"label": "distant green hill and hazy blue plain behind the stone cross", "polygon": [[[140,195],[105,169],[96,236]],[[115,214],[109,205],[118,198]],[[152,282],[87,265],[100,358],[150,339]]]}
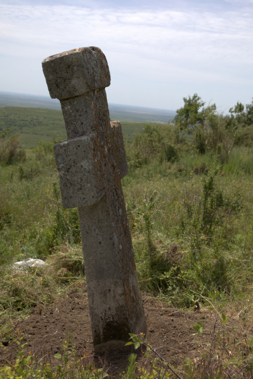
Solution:
{"label": "distant green hill and hazy blue plain behind the stone cross", "polygon": [[[110,119],[121,122],[125,140],[133,140],[146,123],[167,124],[174,111],[109,104]],[[19,133],[26,148],[38,142],[64,140],[66,131],[60,102],[46,96],[0,92],[0,133]]]}

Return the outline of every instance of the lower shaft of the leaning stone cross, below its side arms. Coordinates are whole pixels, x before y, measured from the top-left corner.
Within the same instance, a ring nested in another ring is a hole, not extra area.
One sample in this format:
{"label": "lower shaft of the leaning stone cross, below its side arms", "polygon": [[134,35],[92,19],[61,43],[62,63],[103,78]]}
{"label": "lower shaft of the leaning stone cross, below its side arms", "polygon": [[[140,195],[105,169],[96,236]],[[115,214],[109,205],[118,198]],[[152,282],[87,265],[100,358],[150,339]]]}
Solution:
{"label": "lower shaft of the leaning stone cross, below its side arms", "polygon": [[78,212],[94,347],[120,346],[147,330],[121,188]]}

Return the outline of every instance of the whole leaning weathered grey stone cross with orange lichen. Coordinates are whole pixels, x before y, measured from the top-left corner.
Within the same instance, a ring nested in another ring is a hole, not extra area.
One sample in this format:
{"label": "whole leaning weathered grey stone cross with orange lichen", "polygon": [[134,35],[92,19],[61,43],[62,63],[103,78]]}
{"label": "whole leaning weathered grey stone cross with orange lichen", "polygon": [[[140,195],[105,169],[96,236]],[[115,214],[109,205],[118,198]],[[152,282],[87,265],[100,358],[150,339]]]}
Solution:
{"label": "whole leaning weathered grey stone cross with orange lichen", "polygon": [[54,145],[64,208],[78,207],[95,351],[146,332],[121,178],[128,173],[121,125],[110,123],[106,58],[96,47],[42,62],[61,102],[67,140]]}

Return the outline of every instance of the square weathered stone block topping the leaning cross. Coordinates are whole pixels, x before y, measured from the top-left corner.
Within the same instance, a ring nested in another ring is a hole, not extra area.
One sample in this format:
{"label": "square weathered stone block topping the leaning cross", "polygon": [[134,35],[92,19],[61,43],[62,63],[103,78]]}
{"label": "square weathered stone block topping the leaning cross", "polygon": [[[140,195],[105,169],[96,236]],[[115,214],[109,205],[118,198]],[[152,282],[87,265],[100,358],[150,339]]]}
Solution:
{"label": "square weathered stone block topping the leaning cross", "polygon": [[52,55],[42,62],[50,96],[68,99],[108,87],[111,82],[108,63],[97,47],[86,47]]}

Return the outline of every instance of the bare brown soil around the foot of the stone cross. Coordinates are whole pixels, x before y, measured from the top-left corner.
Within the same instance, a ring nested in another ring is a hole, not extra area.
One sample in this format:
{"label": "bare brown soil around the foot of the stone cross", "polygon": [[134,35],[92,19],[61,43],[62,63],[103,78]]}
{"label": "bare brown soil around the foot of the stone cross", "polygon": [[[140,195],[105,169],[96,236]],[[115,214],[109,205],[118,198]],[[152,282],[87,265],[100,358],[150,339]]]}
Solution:
{"label": "bare brown soil around the foot of the stone cross", "polygon": [[[143,302],[148,326],[146,340],[167,362],[177,367],[186,357],[193,360],[201,357],[203,348],[212,340],[215,313],[193,308],[183,312],[149,296],[143,297]],[[201,336],[193,329],[196,322],[204,323]],[[99,359],[95,356],[85,285],[68,292],[53,305],[33,309],[26,320],[15,323],[14,333],[22,333],[22,344],[27,343],[27,351],[38,357],[48,354],[53,359],[54,354],[62,353],[62,345],[70,335],[78,355],[86,354],[93,362],[106,363],[114,377],[128,364],[127,354],[118,351],[105,353]],[[18,351],[14,341],[2,343],[6,346],[0,347],[1,366],[7,363],[6,359],[13,361]],[[138,361],[147,364],[143,355],[138,356]]]}

